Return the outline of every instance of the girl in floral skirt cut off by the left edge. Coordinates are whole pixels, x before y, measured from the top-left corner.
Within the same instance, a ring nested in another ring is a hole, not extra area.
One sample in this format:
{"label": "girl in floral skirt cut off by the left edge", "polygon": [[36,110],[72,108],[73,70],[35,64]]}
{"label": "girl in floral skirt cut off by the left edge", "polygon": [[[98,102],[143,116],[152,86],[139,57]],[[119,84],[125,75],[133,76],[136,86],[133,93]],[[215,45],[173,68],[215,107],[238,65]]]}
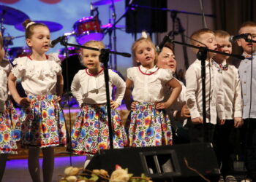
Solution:
{"label": "girl in floral skirt cut off by the left edge", "polygon": [[8,99],[7,81],[12,66],[4,60],[3,39],[0,33],[0,181],[9,154],[17,154],[16,142],[20,140],[20,119]]}

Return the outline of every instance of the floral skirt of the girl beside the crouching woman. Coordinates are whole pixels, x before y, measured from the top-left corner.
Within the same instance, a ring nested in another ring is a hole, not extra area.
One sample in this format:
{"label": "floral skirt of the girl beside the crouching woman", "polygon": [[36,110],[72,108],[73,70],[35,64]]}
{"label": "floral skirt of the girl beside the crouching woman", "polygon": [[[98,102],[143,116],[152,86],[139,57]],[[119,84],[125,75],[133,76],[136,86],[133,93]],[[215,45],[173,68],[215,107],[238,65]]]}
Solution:
{"label": "floral skirt of the girl beside the crouching woman", "polygon": [[165,146],[173,144],[169,117],[163,110],[157,110],[155,103],[137,103],[128,128],[129,146]]}

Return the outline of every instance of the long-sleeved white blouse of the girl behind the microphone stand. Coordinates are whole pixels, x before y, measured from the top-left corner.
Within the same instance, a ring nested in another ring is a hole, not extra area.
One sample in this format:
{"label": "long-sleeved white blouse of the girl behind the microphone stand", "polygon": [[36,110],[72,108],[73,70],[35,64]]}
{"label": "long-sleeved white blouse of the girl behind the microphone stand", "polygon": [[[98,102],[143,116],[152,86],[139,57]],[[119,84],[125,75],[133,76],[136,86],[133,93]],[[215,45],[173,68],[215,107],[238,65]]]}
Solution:
{"label": "long-sleeved white blouse of the girl behind the microphone stand", "polygon": [[[115,101],[121,104],[124,98],[126,84],[118,74],[108,70],[110,99],[112,100],[113,85],[116,86]],[[82,103],[101,104],[107,103],[105,78],[103,70],[97,75],[89,74],[87,69],[78,71],[71,84],[72,95],[78,100],[79,106]]]}

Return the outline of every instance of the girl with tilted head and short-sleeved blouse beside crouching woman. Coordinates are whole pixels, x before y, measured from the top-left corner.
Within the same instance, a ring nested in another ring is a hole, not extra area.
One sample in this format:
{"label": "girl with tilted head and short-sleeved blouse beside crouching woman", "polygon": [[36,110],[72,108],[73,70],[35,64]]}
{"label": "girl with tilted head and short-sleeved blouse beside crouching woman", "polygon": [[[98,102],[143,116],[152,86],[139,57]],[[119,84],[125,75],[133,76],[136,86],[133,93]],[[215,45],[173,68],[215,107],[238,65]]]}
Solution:
{"label": "girl with tilted head and short-sleeved blouse beside crouching woman", "polygon": [[[129,146],[172,145],[171,123],[164,109],[178,98],[181,84],[173,79],[173,73],[169,69],[155,66],[156,49],[150,39],[142,37],[135,41],[132,55],[140,66],[127,70],[124,98],[127,108],[132,109],[130,122],[127,123]],[[173,92],[166,102],[162,102],[165,85],[172,87]],[[133,102],[130,99],[131,92]]]}

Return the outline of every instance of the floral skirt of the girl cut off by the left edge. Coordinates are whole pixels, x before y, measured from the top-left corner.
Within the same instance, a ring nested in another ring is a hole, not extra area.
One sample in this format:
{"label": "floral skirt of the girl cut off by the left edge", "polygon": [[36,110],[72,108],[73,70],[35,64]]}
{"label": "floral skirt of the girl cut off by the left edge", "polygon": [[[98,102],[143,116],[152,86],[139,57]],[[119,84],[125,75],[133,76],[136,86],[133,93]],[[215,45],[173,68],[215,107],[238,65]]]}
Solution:
{"label": "floral skirt of the girl cut off by the left edge", "polygon": [[5,102],[5,110],[0,113],[0,154],[17,154],[20,141],[20,119],[12,102]]}

